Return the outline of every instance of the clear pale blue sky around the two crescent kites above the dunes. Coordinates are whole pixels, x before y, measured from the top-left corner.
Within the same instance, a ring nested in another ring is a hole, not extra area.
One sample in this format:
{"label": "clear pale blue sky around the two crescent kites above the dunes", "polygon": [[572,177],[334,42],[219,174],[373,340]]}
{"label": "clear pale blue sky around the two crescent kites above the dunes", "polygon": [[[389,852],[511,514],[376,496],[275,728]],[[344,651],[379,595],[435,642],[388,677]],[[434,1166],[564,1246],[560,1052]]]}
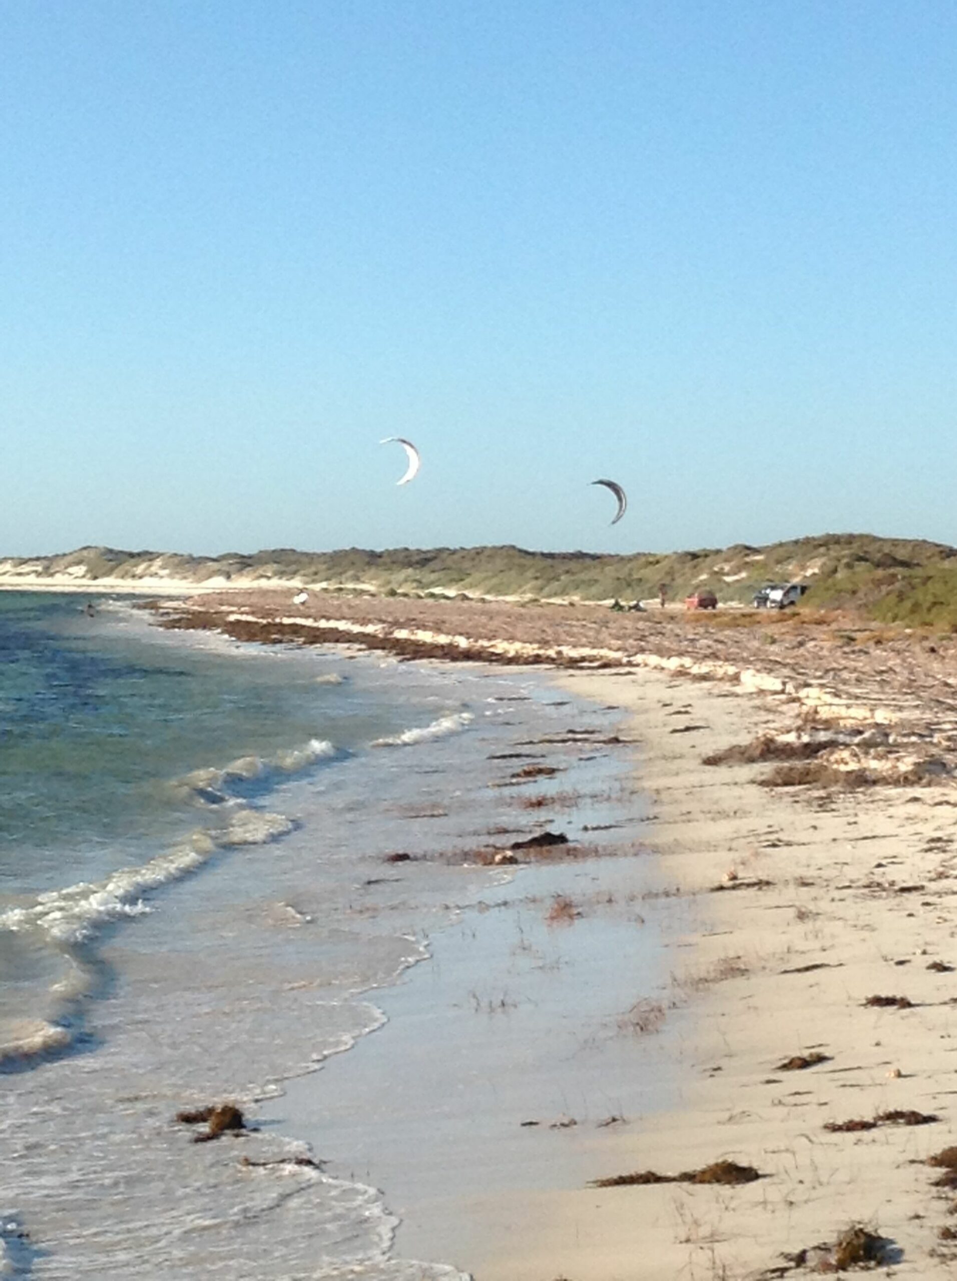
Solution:
{"label": "clear pale blue sky around the two crescent kites above the dunes", "polygon": [[953,0],[0,0],[0,553],[957,542],[956,393]]}

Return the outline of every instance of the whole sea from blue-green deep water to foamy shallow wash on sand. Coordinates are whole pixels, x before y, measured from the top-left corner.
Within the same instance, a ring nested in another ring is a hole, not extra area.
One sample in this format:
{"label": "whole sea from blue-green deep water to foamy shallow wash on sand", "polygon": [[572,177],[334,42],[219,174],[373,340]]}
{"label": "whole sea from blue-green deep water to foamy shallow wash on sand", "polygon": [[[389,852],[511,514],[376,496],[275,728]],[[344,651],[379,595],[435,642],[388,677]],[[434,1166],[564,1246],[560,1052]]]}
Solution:
{"label": "whole sea from blue-green deep water to foamy shallow wash on sand", "polygon": [[536,830],[514,752],[562,756],[538,787],[578,789],[579,835],[621,760],[538,676],[87,600],[0,593],[0,1276],[459,1277],[398,1258],[387,1196],[288,1125],[195,1143],[173,1116],[265,1116],[383,1026],[377,990],[511,875],[473,851]]}

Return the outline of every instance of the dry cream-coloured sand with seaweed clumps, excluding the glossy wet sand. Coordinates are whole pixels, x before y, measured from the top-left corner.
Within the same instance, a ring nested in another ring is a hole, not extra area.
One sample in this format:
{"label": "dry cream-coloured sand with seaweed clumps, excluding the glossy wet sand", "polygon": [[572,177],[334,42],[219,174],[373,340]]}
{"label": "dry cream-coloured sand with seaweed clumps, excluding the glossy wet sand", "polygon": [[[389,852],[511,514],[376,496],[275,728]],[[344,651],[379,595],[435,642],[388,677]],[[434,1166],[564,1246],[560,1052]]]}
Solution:
{"label": "dry cream-coloured sand with seaweed clumps, excluding the glossy wet sand", "polygon": [[[676,1173],[729,1158],[766,1177],[740,1187],[489,1196],[474,1207],[484,1226],[475,1234],[484,1248],[468,1261],[477,1281],[776,1276],[781,1252],[833,1240],[852,1221],[896,1243],[896,1276],[951,1276],[952,1248],[937,1239],[951,1198],[931,1187],[938,1172],[922,1162],[953,1141],[948,1002],[957,981],[926,968],[935,958],[957,965],[953,789],[880,788],[821,802],[806,789],[758,788],[753,779],[767,766],[699,761],[780,724],[785,707],[651,673],[564,680],[634,711],[665,879],[688,892],[726,874],[773,883],[698,898],[703,927],[688,939],[673,986],[693,1013],[676,1065],[684,1097],[637,1135],[605,1131],[591,1176]],[[684,725],[702,728],[673,733]],[[926,888],[894,892],[917,884]],[[781,972],[819,963],[829,968]],[[866,1008],[872,994],[906,995],[916,1008]],[[831,1062],[775,1071],[811,1049]],[[824,1130],[892,1108],[942,1121]],[[520,1231],[502,1234],[506,1214]]]}

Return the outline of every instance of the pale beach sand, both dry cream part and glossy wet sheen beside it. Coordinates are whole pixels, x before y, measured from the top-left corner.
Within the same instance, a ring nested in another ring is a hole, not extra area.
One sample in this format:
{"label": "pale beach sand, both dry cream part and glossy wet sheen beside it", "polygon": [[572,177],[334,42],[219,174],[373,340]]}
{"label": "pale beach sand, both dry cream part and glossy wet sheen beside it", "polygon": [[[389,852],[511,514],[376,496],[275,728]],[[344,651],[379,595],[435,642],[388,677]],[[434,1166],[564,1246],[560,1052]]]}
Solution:
{"label": "pale beach sand, both dry cream part and glossy wet sheen beside it", "polygon": [[[487,895],[382,994],[386,1031],[293,1082],[290,1126],[384,1189],[401,1258],[475,1281],[770,1281],[853,1222],[888,1239],[894,1276],[951,1276],[951,1195],[925,1158],[953,1141],[957,970],[928,970],[957,966],[953,787],[761,788],[769,766],[702,756],[787,728],[794,699],[655,671],[560,680],[633,712],[656,857],[523,870]],[[550,931],[559,890],[584,915]],[[657,1030],[623,1032],[637,1000],[665,1007]],[[811,1050],[830,1061],[775,1070]],[[888,1109],[940,1122],[824,1129]],[[588,1186],[720,1159],[762,1177]]]}

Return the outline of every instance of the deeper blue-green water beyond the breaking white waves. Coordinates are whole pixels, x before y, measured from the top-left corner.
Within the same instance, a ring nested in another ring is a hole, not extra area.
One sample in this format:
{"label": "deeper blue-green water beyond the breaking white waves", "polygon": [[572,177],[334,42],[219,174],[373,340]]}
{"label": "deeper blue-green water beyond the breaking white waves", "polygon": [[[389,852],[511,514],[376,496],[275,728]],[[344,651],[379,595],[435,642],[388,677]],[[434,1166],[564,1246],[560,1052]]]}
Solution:
{"label": "deeper blue-green water beyond the breaking white waves", "polygon": [[[146,642],[102,602],[0,593],[0,893],[96,879],[195,821],[170,784],[319,737],[341,751],[397,728],[407,698],[316,684],[315,664]],[[177,801],[179,802],[177,804]]]}

